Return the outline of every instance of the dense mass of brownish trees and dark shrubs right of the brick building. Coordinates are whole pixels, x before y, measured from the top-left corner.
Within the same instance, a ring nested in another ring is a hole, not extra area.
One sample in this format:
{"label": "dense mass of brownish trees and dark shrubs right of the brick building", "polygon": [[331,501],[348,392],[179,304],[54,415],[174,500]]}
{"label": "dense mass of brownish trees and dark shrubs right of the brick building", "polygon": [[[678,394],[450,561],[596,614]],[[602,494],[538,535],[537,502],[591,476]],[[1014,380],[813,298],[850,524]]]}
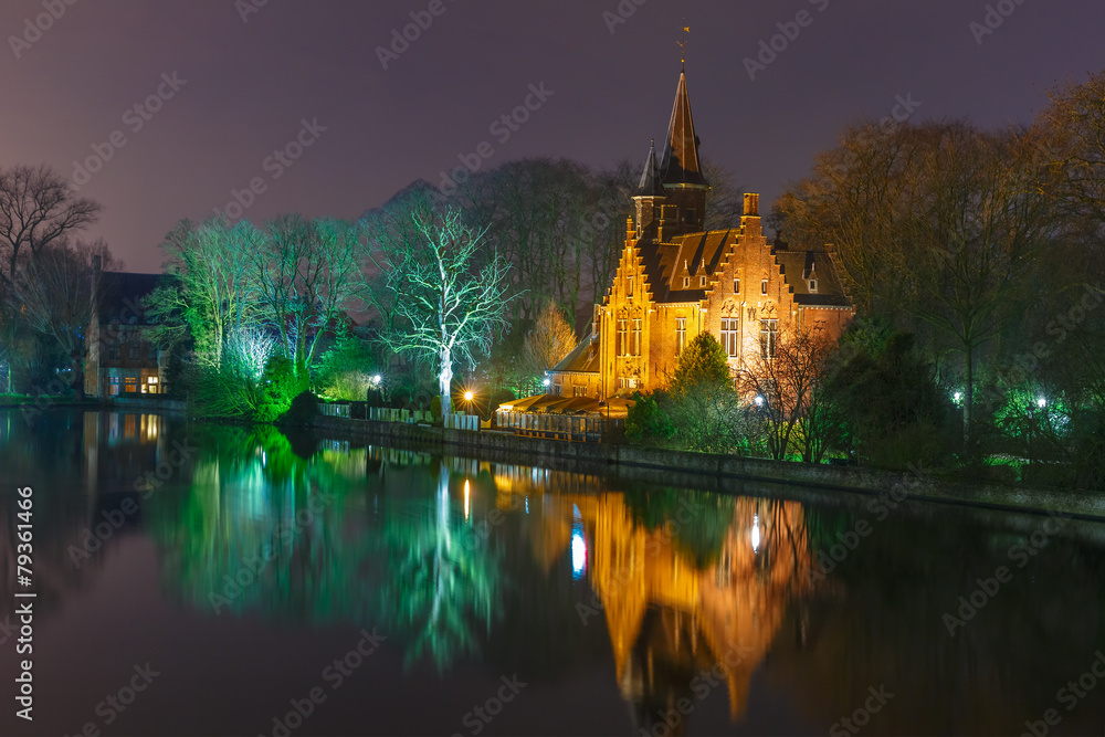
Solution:
{"label": "dense mass of brownish trees and dark shrubs right of the brick building", "polygon": [[641,408],[639,436],[1105,482],[1105,74],[1028,127],[850,126],[772,221],[833,253],[859,319],[828,349],[791,336],[806,359],[745,367],[736,436],[657,421],[677,392]]}

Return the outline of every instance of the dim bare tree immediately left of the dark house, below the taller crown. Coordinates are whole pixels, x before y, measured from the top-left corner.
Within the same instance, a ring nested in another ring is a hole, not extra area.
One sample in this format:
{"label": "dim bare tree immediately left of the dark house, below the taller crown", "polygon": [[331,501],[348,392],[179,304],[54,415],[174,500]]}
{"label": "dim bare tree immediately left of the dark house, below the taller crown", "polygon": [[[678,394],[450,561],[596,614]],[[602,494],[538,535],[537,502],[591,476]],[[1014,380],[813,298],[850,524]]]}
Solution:
{"label": "dim bare tree immediately left of the dark house, below the taller crown", "polygon": [[122,266],[103,241],[75,245],[57,241],[43,246],[13,285],[22,318],[69,357],[70,379],[78,399],[84,398],[85,336],[96,318],[101,289],[101,270],[93,263],[97,257],[109,271]]}

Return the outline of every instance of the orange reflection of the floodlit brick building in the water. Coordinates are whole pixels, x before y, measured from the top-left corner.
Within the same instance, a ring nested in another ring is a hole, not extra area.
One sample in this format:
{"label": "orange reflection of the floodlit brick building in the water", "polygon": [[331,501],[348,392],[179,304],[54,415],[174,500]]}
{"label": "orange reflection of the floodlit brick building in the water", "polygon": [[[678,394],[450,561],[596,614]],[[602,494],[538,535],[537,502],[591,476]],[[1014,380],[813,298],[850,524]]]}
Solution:
{"label": "orange reflection of the floodlit brick building in the water", "polygon": [[[532,501],[536,488],[499,471],[496,484],[505,483],[498,486],[498,506],[508,507],[512,493]],[[740,497],[715,506],[703,499],[720,497],[691,494],[654,529],[634,518],[625,494],[549,494],[540,499],[544,529],[532,538],[546,567],[560,555],[571,555],[573,567],[587,567],[606,615],[619,687],[645,724],[680,698],[696,703],[709,695],[711,684],[722,683],[730,716],[743,715],[751,674],[791,598],[807,587],[809,545],[800,504]],[[577,510],[587,530],[582,550],[573,536]],[[727,518],[706,519],[717,514]],[[711,549],[703,551],[705,538]]]}

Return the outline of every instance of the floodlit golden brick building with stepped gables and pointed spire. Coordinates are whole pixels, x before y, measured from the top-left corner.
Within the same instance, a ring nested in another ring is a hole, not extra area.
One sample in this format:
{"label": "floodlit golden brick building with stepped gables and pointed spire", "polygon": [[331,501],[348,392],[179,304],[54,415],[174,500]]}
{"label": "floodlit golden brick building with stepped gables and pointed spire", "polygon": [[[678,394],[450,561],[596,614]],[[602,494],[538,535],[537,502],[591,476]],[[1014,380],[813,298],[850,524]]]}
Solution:
{"label": "floodlit golden brick building with stepped gables and pointed spire", "polygon": [[745,194],[739,223],[705,231],[708,191],[681,72],[663,156],[657,164],[655,145],[649,150],[613,283],[590,335],[550,371],[554,393],[603,399],[663,388],[680,351],[704,331],[734,370],[757,354],[772,357],[780,335],[840,335],[855,308],[830,254],[768,241],[759,194]]}

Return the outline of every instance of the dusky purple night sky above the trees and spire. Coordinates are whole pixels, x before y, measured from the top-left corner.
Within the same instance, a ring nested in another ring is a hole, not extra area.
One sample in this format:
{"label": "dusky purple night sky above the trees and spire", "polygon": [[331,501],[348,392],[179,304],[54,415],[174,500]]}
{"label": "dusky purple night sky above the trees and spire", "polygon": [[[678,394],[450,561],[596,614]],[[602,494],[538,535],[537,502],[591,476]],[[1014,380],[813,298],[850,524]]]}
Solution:
{"label": "dusky purple night sky above the trees and spire", "polygon": [[[635,12],[613,33],[603,11],[617,14],[618,0],[441,0],[387,70],[376,48],[430,0],[267,0],[243,22],[262,1],[78,0],[17,59],[24,19],[63,0],[7,0],[0,161],[73,176],[74,160],[120,131],[125,145],[101,149],[112,158],[81,190],[105,206],[88,235],[128,269],[156,271],[173,223],[224,208],[253,178],[264,191],[243,217],[261,222],[356,217],[419,177],[436,183],[482,141],[494,149],[484,166],[643,161],[666,129],[684,15],[702,151],[759,191],[764,210],[844,124],[887,115],[896,95],[919,102],[919,118],[1027,123],[1056,81],[1105,69],[1101,0],[1002,0],[1013,12],[981,43],[969,25],[987,3],[971,0],[622,0]],[[809,24],[750,80],[743,59],[801,10]],[[127,114],[173,72],[186,83],[160,110]],[[490,125],[541,82],[552,96],[499,144]],[[290,167],[266,168],[303,119],[326,130]]]}

